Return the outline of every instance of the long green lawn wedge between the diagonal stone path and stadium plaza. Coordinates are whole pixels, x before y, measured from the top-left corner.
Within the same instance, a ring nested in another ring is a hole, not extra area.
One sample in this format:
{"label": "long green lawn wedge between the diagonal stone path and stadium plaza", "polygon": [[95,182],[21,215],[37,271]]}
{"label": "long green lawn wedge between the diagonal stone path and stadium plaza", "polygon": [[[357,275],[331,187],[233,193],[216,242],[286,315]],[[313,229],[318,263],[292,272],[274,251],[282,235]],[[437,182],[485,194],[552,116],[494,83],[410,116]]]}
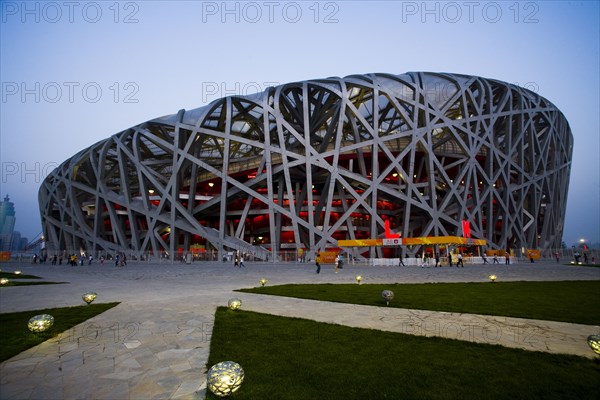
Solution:
{"label": "long green lawn wedge between the diagonal stone path and stadium plaza", "polygon": [[242,292],[389,307],[600,324],[600,281],[280,285]]}

